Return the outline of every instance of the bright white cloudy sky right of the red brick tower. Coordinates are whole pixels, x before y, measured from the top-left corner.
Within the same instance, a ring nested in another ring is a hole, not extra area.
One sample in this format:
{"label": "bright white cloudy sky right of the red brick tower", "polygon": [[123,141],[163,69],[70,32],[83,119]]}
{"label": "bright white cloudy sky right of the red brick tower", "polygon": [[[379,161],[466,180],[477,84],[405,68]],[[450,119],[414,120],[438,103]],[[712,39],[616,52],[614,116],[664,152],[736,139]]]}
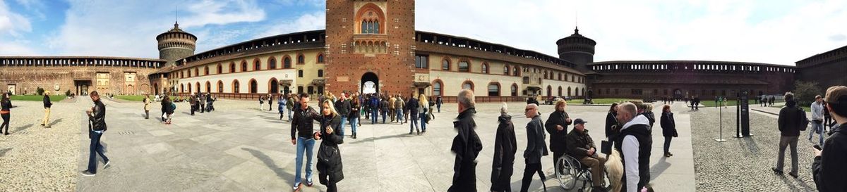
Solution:
{"label": "bright white cloudy sky right of the red brick tower", "polygon": [[574,17],[579,12],[579,33],[597,41],[595,61],[713,60],[793,65],[794,61],[844,46],[843,36],[847,34],[847,2],[836,0],[416,3],[418,30],[466,36],[551,56],[557,56],[556,40],[573,34]]}

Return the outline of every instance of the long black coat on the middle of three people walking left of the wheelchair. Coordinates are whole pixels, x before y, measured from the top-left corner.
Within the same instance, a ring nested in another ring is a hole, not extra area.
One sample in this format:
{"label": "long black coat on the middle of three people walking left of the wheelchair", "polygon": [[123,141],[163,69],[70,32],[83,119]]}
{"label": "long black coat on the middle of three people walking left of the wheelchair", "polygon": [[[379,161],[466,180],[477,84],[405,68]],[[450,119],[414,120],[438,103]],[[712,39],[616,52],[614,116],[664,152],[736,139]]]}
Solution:
{"label": "long black coat on the middle of three people walking left of the wheelchair", "polygon": [[518,144],[515,138],[515,125],[512,116],[500,115],[497,118],[497,135],[494,139],[494,161],[491,163],[491,184],[509,184],[512,179],[512,165],[515,163],[515,152]]}

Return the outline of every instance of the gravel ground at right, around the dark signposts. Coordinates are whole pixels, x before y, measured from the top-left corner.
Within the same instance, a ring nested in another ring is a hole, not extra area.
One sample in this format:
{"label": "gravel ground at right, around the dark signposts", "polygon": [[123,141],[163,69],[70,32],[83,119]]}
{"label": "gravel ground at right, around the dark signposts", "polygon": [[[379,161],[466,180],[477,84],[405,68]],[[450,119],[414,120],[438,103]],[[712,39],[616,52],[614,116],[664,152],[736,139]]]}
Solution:
{"label": "gravel ground at right, around the dark signposts", "polygon": [[[751,105],[752,107],[752,105]],[[779,152],[779,131],[776,116],[750,113],[752,137],[734,138],[735,112],[723,110],[723,139],[719,134],[718,110],[701,108],[691,114],[692,145],[694,146],[697,191],[817,191],[811,179],[814,158],[812,145],[806,140],[807,131],[800,132],[797,144],[798,179],[788,175],[791,170],[790,150],[785,152],[785,175],[772,172]],[[817,140],[816,140],[817,141]]]}

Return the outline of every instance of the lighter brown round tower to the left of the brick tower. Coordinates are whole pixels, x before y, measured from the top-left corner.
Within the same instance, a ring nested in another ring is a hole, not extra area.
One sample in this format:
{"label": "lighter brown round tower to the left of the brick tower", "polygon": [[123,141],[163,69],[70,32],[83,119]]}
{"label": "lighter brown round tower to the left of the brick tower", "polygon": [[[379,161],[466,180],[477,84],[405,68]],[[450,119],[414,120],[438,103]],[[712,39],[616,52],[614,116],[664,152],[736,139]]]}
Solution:
{"label": "lighter brown round tower to the left of the brick tower", "polygon": [[156,36],[158,41],[159,59],[168,61],[165,66],[174,65],[175,61],[193,56],[197,45],[197,36],[180,29],[179,23],[174,23],[170,29]]}

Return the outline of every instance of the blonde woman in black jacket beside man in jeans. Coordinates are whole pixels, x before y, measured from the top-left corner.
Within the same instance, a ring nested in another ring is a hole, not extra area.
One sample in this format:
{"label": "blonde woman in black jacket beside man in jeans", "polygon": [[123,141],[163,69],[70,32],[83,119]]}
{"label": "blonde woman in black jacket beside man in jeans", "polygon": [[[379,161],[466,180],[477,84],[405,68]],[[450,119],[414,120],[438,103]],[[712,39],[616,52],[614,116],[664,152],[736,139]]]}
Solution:
{"label": "blonde woman in black jacket beside man in jeans", "polygon": [[335,186],[341,179],[344,179],[344,172],[341,166],[341,153],[338,145],[344,143],[341,133],[334,131],[335,127],[340,127],[341,116],[335,111],[335,106],[331,99],[324,99],[323,110],[320,120],[320,132],[315,133],[315,140],[324,140],[320,142],[318,148],[318,181],[320,184],[326,185],[327,192],[338,191]]}

